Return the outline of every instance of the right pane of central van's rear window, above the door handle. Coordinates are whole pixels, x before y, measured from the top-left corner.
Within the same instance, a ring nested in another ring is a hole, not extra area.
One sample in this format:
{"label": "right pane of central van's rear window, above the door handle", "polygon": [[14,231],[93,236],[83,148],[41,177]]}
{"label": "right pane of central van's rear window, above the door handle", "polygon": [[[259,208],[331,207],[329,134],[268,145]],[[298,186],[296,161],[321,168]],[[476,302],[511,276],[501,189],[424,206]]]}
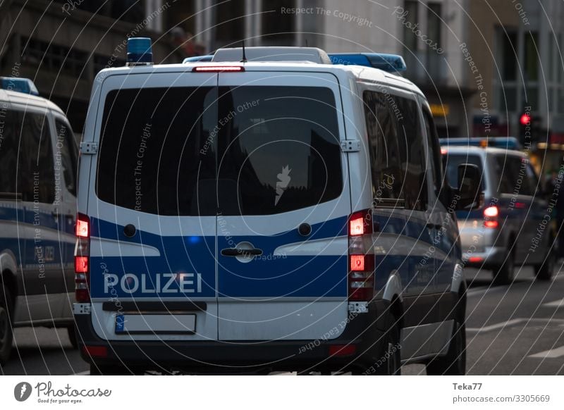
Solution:
{"label": "right pane of central van's rear window, above the door handle", "polygon": [[223,213],[281,213],[341,194],[341,146],[330,89],[225,87],[219,94],[218,184],[232,192],[220,195]]}

